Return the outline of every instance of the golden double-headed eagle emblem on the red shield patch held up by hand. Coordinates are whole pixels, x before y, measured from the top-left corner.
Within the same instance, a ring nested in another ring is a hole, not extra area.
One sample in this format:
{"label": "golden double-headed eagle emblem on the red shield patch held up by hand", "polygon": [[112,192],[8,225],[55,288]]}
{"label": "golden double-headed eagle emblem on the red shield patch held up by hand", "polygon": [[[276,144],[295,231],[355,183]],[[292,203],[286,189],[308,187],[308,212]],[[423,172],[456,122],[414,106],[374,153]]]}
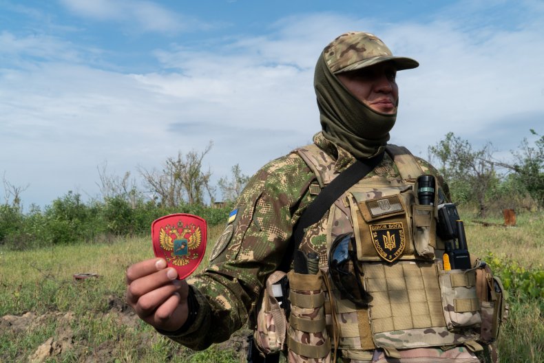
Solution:
{"label": "golden double-headed eagle emblem on the red shield patch held up by hand", "polygon": [[169,263],[176,266],[185,266],[191,260],[199,258],[198,252],[194,252],[202,242],[202,231],[193,223],[183,225],[165,225],[159,232],[160,248],[165,252]]}

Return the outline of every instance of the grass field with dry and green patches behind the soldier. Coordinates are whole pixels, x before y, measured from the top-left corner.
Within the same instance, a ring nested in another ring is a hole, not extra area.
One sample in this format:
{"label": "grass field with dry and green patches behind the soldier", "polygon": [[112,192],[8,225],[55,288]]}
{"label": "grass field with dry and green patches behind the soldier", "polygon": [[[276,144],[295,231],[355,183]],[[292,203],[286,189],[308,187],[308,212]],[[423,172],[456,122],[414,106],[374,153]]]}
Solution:
{"label": "grass field with dry and green patches behind the soldier", "polygon": [[[485,227],[471,219],[465,217],[472,254],[493,252],[501,261],[543,270],[543,213],[519,215],[514,228]],[[212,228],[209,241],[221,230]],[[239,362],[241,334],[194,352],[158,336],[127,309],[125,270],[152,256],[149,237],[0,250],[0,362]],[[98,277],[74,280],[74,274],[85,272]],[[502,362],[544,362],[542,306],[541,299],[519,300],[512,294],[510,318],[499,340]]]}

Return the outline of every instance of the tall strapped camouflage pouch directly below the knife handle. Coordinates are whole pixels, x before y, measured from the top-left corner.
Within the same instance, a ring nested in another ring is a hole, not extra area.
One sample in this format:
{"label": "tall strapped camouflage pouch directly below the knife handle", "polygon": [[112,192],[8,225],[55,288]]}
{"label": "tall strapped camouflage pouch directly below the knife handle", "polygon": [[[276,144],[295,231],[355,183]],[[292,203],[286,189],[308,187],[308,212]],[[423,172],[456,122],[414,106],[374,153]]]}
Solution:
{"label": "tall strapped camouflage pouch directly below the knife handle", "polygon": [[331,340],[325,322],[322,274],[297,274],[290,271],[289,362],[331,362]]}

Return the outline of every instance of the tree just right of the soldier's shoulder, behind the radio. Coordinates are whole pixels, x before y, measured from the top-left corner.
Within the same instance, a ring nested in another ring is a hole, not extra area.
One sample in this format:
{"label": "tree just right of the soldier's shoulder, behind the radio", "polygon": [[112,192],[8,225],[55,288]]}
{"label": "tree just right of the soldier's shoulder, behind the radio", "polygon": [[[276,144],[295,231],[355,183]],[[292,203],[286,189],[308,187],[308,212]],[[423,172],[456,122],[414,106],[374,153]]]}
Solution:
{"label": "tree just right of the soldier's shoulder, behind the radio", "polygon": [[499,181],[492,162],[492,144],[488,142],[474,150],[467,140],[450,132],[444,140],[429,146],[428,151],[431,159],[438,157],[439,170],[450,185],[453,197],[476,201],[480,217],[485,217],[486,195]]}

